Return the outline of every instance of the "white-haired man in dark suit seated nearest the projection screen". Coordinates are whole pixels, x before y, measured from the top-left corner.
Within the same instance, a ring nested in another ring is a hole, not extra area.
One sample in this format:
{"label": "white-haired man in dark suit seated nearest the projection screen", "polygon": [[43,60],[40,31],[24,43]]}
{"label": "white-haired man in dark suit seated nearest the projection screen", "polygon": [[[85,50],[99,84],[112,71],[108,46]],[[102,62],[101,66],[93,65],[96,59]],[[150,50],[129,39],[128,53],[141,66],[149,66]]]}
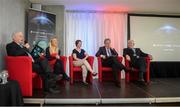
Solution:
{"label": "white-haired man in dark suit seated nearest the projection screen", "polygon": [[146,72],[146,59],[145,57],[150,57],[152,59],[152,56],[149,54],[146,54],[141,51],[140,48],[134,48],[134,40],[128,40],[128,48],[125,48],[123,50],[123,56],[128,60],[131,61],[130,65],[134,68],[139,69],[139,82],[144,83],[144,73]]}

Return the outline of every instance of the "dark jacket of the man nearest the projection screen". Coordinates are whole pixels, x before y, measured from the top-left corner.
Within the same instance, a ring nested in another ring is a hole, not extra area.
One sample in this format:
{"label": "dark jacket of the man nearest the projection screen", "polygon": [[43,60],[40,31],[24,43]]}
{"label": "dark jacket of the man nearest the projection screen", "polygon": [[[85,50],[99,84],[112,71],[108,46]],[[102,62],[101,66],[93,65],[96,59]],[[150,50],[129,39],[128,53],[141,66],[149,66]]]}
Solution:
{"label": "dark jacket of the man nearest the projection screen", "polygon": [[[140,48],[135,48],[135,51],[136,51],[136,56],[139,56],[139,57],[148,56],[148,54],[142,52]],[[137,59],[137,57],[134,56],[134,51],[131,48],[123,49],[123,56],[125,57],[126,55],[130,56],[132,63],[135,62],[135,60]]]}

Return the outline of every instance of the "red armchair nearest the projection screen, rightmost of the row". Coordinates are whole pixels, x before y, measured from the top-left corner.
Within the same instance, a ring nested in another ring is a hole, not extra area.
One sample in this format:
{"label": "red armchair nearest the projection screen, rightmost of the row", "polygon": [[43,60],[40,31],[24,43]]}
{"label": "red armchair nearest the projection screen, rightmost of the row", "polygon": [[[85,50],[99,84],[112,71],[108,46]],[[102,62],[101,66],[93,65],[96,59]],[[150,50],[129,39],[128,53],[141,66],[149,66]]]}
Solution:
{"label": "red armchair nearest the projection screen, rightmost of the row", "polygon": [[[127,68],[132,68],[129,63],[130,62],[125,59],[125,66]],[[147,67],[146,67],[145,81],[147,83],[149,83],[150,82],[150,58],[149,57],[146,57],[146,64],[147,64]],[[132,72],[128,72],[125,75],[126,82],[138,80],[138,77],[139,77],[138,72],[139,72],[139,70],[137,68],[132,68],[132,69],[133,69]]]}

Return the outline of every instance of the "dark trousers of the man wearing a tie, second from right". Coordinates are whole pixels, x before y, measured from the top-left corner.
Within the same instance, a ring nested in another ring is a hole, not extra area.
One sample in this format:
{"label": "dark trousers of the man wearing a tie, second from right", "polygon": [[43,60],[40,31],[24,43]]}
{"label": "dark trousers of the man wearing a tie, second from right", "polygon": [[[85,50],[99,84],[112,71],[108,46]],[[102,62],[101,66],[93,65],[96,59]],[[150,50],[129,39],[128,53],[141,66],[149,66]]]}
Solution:
{"label": "dark trousers of the man wearing a tie, second from right", "polygon": [[113,70],[113,77],[115,82],[119,82],[118,79],[118,72],[122,69],[125,69],[125,66],[120,63],[117,59],[117,57],[108,57],[104,60],[102,60],[102,65],[105,67],[111,67]]}

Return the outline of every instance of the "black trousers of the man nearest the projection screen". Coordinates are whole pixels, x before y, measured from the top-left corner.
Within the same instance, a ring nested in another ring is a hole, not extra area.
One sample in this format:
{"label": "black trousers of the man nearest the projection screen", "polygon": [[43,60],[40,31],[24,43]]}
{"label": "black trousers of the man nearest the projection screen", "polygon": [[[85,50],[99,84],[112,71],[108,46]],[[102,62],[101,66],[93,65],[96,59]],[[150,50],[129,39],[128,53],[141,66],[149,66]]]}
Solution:
{"label": "black trousers of the man nearest the projection screen", "polygon": [[139,69],[139,80],[144,79],[144,74],[146,73],[146,58],[140,57],[135,58],[132,62],[132,67]]}

